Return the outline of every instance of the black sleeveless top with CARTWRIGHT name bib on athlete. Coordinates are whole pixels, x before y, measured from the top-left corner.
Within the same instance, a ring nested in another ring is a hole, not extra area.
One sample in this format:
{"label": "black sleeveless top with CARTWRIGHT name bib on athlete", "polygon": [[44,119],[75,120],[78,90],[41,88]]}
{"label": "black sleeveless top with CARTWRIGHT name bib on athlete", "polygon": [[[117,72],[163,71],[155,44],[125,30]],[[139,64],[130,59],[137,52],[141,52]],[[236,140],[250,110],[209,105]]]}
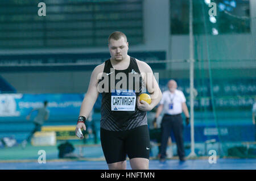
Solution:
{"label": "black sleeveless top with CARTWRIGHT name bib on athlete", "polygon": [[[123,79],[125,76],[118,73],[125,74],[127,79]],[[104,74],[98,82],[99,85],[103,85],[101,81],[105,78],[105,81],[109,81],[102,86],[108,91],[101,93],[101,128],[109,131],[126,131],[147,125],[147,112],[137,107],[138,95],[145,86],[135,58],[130,57],[130,65],[125,70],[115,70],[110,59],[105,61]]]}

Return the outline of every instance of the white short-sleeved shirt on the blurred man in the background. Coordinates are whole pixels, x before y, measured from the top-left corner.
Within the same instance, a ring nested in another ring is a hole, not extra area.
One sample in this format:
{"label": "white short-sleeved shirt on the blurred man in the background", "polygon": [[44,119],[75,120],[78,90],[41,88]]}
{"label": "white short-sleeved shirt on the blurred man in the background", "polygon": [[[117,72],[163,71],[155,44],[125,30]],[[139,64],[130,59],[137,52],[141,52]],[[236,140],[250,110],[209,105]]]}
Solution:
{"label": "white short-sleeved shirt on the blurred man in the background", "polygon": [[[172,102],[172,109],[170,109],[170,104]],[[174,94],[171,91],[167,90],[163,92],[162,99],[160,104],[163,104],[163,113],[169,115],[177,115],[182,113],[182,103],[186,102],[186,98],[182,91],[175,90]]]}

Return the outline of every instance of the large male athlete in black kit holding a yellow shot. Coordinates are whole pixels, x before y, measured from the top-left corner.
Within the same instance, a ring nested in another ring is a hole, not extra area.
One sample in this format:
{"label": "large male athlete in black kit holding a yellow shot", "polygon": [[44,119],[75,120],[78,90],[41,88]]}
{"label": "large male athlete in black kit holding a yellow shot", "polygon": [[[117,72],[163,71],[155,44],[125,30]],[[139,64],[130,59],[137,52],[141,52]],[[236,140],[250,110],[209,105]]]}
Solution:
{"label": "large male athlete in black kit holding a yellow shot", "polygon": [[[126,155],[132,169],[148,169],[150,138],[146,112],[159,103],[162,92],[150,66],[127,54],[129,44],[124,33],[113,32],[108,43],[111,58],[92,72],[76,135],[84,138],[81,128],[86,129],[86,117],[101,93],[100,136],[109,169],[126,169]],[[139,101],[143,86],[151,96],[151,104]]]}

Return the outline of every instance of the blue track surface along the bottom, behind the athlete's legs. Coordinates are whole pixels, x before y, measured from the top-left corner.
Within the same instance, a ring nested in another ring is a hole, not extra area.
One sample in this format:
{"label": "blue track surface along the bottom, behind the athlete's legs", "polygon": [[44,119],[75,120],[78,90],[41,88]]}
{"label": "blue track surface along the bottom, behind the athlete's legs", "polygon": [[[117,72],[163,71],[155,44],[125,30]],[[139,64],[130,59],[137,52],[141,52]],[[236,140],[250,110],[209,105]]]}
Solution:
{"label": "blue track surface along the bottom, behind the athlete's legs", "polygon": [[[46,163],[0,163],[3,170],[106,170],[108,165],[105,161],[66,161]],[[129,161],[127,169],[130,170]],[[256,170],[256,159],[217,159],[217,163],[210,164],[208,159],[191,159],[185,162],[178,160],[167,160],[159,163],[151,160],[151,170]]]}

